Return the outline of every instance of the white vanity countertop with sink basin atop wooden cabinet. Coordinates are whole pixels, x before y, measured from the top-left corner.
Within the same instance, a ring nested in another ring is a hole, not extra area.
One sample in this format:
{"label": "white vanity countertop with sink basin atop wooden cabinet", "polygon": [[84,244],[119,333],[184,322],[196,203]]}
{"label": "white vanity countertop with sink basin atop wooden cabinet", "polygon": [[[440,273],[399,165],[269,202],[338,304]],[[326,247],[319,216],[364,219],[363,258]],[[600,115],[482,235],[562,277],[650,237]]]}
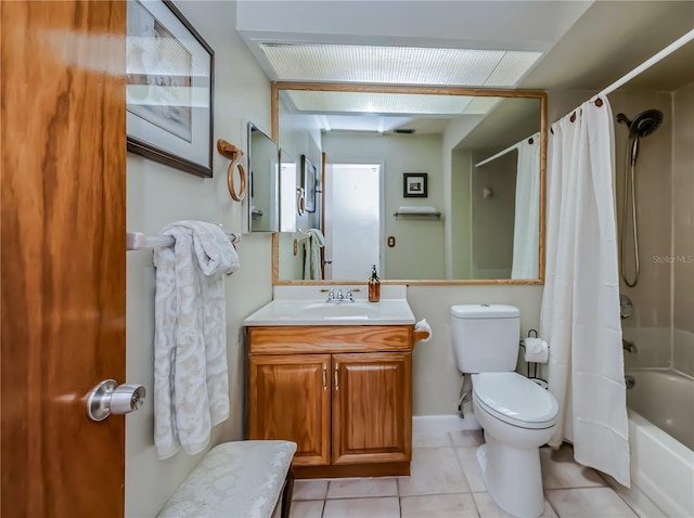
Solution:
{"label": "white vanity countertop with sink basin atop wooden cabinet", "polygon": [[395,325],[414,324],[406,299],[380,302],[325,302],[275,299],[244,321],[244,325]]}

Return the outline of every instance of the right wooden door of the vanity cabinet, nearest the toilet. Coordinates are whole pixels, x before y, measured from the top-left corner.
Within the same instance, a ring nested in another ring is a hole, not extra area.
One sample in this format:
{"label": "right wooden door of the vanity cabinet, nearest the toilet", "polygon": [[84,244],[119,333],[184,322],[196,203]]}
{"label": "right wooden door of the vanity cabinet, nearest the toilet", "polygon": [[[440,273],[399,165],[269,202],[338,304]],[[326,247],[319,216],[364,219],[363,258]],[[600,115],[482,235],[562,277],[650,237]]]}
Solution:
{"label": "right wooden door of the vanity cabinet, nearest the toilet", "polygon": [[410,461],[412,353],[333,354],[333,464]]}

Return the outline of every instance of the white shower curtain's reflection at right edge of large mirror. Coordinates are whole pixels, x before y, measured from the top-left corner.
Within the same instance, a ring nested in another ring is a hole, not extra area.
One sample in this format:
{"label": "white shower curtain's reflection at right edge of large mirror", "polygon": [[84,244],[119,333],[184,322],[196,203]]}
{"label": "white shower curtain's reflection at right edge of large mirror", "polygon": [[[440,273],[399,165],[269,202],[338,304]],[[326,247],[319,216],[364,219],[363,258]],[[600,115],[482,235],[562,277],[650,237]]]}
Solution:
{"label": "white shower curtain's reflection at right edge of large mirror", "polygon": [[[530,143],[532,142],[532,143]],[[540,263],[540,133],[518,144],[511,279],[538,279]]]}

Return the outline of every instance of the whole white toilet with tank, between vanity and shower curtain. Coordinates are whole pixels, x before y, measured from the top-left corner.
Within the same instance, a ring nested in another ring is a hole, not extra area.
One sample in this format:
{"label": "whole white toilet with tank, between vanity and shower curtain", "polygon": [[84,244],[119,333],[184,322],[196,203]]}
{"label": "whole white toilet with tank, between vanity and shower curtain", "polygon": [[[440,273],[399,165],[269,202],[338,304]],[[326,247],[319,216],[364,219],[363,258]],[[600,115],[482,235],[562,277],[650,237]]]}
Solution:
{"label": "whole white toilet with tank, between vanity and shower curtain", "polygon": [[458,368],[473,375],[473,409],[486,442],[477,461],[489,494],[514,516],[540,516],[539,448],[554,432],[558,405],[548,390],[514,372],[520,312],[513,306],[453,306],[451,335]]}

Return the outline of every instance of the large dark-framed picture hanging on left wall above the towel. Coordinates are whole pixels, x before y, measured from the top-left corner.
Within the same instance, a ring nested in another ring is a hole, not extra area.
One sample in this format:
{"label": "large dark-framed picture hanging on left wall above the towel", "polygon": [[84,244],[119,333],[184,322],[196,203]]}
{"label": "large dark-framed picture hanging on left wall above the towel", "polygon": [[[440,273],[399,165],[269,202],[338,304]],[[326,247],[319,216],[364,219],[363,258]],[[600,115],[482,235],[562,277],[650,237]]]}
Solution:
{"label": "large dark-framed picture hanging on left wall above the towel", "polygon": [[213,176],[215,53],[169,0],[128,2],[128,151]]}

